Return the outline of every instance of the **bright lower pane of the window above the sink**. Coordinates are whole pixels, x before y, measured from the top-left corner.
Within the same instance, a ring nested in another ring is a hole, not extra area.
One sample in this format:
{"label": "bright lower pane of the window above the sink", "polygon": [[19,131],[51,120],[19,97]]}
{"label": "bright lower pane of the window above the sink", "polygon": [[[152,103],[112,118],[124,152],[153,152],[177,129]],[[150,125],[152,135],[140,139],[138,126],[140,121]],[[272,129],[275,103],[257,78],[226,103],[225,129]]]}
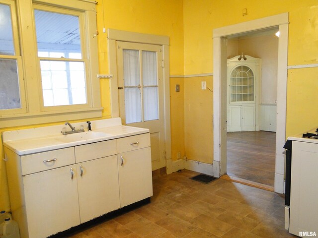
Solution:
{"label": "bright lower pane of the window above the sink", "polygon": [[83,62],[41,60],[44,106],[85,104]]}

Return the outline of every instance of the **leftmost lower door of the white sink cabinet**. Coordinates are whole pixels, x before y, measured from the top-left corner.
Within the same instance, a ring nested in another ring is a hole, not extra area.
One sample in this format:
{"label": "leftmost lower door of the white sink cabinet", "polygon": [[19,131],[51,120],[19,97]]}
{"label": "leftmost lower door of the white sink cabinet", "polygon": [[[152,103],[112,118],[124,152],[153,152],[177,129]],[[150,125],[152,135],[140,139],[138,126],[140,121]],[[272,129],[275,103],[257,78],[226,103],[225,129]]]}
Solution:
{"label": "leftmost lower door of the white sink cabinet", "polygon": [[75,165],[23,177],[30,238],[48,237],[79,225],[76,177]]}

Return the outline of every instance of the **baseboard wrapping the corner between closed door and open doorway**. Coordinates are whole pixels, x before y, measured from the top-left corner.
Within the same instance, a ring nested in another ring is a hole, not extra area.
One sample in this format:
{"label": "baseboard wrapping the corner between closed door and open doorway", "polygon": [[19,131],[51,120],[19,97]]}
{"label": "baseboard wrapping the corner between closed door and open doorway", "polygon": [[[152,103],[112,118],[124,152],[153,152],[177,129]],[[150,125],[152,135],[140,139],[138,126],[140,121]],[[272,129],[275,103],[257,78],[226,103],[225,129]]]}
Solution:
{"label": "baseboard wrapping the corner between closed door and open doorway", "polygon": [[213,176],[212,164],[202,163],[199,161],[188,160],[188,159],[180,159],[180,160],[172,161],[172,172],[176,172],[178,170],[183,170],[183,169]]}

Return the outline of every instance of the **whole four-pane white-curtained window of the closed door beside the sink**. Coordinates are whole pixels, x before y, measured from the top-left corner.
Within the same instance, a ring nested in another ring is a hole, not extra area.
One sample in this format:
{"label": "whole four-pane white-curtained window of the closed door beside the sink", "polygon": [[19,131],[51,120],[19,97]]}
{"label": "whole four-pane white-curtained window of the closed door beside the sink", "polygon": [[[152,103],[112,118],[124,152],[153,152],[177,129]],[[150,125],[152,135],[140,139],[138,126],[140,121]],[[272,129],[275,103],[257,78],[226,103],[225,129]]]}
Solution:
{"label": "whole four-pane white-curtained window of the closed door beside the sink", "polygon": [[142,67],[139,56],[138,50],[123,50],[126,124],[159,119],[157,53],[142,51]]}

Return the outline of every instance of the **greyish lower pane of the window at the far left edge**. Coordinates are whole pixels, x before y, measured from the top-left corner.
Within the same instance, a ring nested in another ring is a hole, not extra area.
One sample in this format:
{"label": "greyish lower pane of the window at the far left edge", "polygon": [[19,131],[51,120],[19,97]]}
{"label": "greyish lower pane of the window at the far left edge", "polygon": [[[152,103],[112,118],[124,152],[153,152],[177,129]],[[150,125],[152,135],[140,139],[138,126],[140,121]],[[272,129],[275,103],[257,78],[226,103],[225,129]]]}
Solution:
{"label": "greyish lower pane of the window at the far left edge", "polygon": [[0,59],[0,110],[21,108],[16,60]]}

